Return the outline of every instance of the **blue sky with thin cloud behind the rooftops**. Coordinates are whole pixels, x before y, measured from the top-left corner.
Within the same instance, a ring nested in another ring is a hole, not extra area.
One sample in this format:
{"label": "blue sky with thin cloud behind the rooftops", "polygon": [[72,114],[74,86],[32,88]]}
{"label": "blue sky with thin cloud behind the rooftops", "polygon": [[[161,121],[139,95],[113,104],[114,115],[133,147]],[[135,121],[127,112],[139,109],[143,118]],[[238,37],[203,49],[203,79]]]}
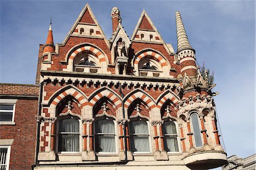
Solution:
{"label": "blue sky with thin cloud behind the rooftops", "polygon": [[34,84],[39,44],[52,16],[55,43],[63,42],[89,3],[107,38],[117,6],[131,36],[142,10],[176,49],[175,11],[183,18],[197,61],[214,71],[214,97],[228,156],[255,153],[254,1],[1,1],[0,82]]}

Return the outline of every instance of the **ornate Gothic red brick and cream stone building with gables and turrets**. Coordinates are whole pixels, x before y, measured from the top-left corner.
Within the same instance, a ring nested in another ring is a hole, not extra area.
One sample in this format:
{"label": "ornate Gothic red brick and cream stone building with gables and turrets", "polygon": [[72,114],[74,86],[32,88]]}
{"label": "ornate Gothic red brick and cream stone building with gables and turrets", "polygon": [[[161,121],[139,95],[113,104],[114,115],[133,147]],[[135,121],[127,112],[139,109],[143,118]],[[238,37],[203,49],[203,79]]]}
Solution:
{"label": "ornate Gothic red brick and cream stone building with gables and turrets", "polygon": [[39,49],[32,168],[207,169],[225,164],[214,85],[196,67],[180,13],[176,52],[145,11],[131,39],[117,7],[111,17],[110,39],[89,5],[63,43],[54,45],[50,25]]}

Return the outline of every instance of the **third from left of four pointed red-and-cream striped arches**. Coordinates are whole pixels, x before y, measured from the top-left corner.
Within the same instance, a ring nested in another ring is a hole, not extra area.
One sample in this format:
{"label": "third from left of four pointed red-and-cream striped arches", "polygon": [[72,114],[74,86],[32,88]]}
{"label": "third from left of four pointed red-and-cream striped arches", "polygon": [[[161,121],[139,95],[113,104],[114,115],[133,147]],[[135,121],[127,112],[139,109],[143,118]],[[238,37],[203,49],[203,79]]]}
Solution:
{"label": "third from left of four pointed red-and-cream striped arches", "polygon": [[142,101],[144,101],[147,104],[147,106],[150,108],[150,110],[155,108],[154,99],[152,99],[152,97],[149,94],[147,94],[146,92],[144,92],[142,90],[135,89],[134,91],[127,94],[127,97],[125,97],[126,109],[137,98],[142,99]]}

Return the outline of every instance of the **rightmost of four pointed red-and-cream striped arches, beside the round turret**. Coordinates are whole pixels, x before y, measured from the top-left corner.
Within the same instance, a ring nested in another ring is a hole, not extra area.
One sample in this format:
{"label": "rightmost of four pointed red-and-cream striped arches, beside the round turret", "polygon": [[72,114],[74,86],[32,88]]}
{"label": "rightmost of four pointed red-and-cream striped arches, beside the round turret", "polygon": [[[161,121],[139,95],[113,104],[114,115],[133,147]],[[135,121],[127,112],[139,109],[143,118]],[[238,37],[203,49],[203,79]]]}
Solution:
{"label": "rightmost of four pointed red-and-cream striped arches, beside the round turret", "polygon": [[176,94],[172,93],[170,90],[167,90],[166,92],[163,92],[157,99],[156,102],[156,107],[158,107],[159,109],[161,109],[161,107],[163,106],[163,104],[170,99],[173,103],[174,103],[174,108],[177,111],[178,108],[176,107],[178,105],[179,102],[179,98],[176,96]]}

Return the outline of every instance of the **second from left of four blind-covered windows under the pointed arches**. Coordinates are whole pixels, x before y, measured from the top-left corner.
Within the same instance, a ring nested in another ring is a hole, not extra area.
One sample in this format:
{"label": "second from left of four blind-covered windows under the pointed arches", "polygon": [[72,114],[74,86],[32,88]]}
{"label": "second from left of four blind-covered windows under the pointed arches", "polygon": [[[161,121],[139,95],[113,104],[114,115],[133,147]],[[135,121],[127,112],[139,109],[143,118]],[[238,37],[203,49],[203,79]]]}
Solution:
{"label": "second from left of four blind-covered windows under the pointed arches", "polygon": [[108,119],[98,120],[95,123],[96,152],[115,152],[115,126]]}

